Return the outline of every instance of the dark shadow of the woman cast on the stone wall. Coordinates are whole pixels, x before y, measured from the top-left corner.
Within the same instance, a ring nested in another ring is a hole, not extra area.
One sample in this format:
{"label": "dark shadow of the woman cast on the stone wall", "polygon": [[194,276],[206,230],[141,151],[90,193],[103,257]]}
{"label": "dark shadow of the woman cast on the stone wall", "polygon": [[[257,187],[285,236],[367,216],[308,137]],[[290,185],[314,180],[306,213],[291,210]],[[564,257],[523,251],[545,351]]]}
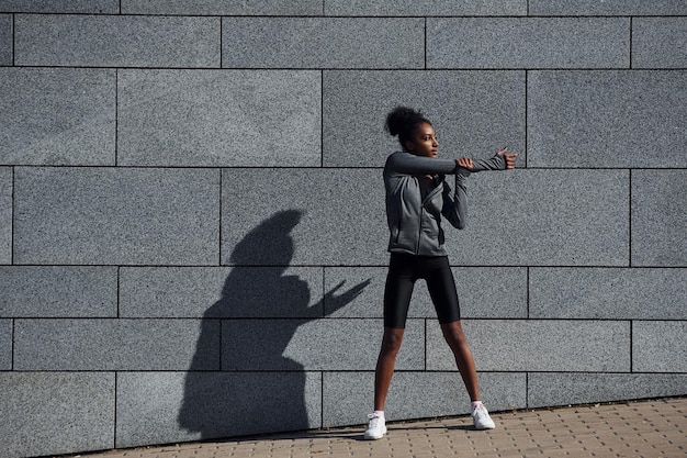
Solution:
{"label": "dark shadow of the woman cast on the stone wall", "polygon": [[294,253],[291,231],[302,214],[278,212],[236,245],[229,261],[241,267],[232,268],[222,298],[203,315],[178,416],[202,439],[319,426],[311,422],[319,418],[319,396],[308,411],[306,395],[320,386],[284,350],[299,326],[325,316],[325,303],[327,313],[335,312],[370,280],[338,294],[341,282],[311,305],[308,283],[285,275]]}

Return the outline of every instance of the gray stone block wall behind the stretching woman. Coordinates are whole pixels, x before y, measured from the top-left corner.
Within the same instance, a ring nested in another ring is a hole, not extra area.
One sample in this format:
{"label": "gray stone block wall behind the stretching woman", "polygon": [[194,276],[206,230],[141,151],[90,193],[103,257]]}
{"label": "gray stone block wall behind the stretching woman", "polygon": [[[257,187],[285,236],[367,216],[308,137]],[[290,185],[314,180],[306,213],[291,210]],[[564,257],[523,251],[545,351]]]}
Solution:
{"label": "gray stone block wall behind the stretching woman", "polygon": [[[396,104],[493,411],[687,394],[683,0],[0,0],[0,449],[362,424]],[[387,415],[469,399],[424,284]]]}

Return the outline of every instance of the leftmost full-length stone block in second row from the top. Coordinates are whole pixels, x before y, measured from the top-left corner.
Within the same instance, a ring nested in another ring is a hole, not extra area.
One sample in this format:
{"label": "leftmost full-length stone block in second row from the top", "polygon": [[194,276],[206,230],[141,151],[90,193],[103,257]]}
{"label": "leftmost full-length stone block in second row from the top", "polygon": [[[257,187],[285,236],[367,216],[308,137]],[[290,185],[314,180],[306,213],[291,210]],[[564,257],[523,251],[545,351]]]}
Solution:
{"label": "leftmost full-length stone block in second row from the top", "polygon": [[219,18],[18,14],[22,66],[219,67]]}

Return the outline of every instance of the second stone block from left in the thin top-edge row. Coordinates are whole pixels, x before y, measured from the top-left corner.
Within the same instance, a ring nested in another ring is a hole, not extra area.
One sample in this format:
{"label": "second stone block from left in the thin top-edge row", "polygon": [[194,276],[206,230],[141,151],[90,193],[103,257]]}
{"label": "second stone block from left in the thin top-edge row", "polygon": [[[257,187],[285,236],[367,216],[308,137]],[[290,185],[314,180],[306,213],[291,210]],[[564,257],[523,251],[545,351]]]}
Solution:
{"label": "second stone block from left in the thin top-edge row", "polygon": [[322,0],[122,0],[123,14],[320,15]]}

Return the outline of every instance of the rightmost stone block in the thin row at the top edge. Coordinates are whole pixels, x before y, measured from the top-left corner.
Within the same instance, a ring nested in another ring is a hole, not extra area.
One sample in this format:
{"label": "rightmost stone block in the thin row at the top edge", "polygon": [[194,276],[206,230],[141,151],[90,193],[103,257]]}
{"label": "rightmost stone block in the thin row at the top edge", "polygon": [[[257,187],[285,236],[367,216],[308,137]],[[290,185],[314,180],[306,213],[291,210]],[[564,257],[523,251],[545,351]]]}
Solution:
{"label": "rightmost stone block in the thin row at the top edge", "polygon": [[532,15],[684,15],[687,4],[680,0],[529,0]]}

